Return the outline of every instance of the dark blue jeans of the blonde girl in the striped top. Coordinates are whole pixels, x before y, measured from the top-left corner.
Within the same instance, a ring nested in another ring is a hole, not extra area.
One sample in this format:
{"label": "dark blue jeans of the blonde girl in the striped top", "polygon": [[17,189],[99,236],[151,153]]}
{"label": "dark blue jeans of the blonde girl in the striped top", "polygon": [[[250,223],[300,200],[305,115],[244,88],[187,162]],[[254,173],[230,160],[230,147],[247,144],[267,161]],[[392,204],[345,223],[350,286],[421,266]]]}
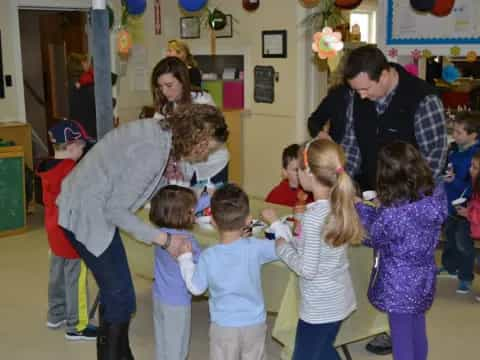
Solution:
{"label": "dark blue jeans of the blonde girl in the striped top", "polygon": [[333,343],[341,323],[309,324],[298,320],[292,360],[340,360]]}

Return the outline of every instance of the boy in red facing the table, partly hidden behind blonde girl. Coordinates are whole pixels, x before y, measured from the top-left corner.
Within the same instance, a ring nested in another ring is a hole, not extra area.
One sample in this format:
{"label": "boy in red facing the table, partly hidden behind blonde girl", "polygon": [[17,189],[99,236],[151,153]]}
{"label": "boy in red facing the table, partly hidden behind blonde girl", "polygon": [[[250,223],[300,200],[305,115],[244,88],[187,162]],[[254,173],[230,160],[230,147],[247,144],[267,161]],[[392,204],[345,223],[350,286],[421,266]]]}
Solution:
{"label": "boy in red facing the table, partly hidden behind blonde girl", "polygon": [[[282,152],[282,178],[265,199],[266,202],[294,207],[297,205],[298,193],[303,192],[298,181],[298,144],[292,144]],[[309,194],[305,203],[312,202]]]}

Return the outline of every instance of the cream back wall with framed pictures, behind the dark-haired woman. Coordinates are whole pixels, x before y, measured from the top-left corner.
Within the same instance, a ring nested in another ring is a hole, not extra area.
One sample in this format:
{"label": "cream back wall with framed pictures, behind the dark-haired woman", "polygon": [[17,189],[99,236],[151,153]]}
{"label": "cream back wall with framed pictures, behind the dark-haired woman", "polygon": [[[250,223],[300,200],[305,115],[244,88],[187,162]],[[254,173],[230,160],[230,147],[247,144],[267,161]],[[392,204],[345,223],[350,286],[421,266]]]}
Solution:
{"label": "cream back wall with framed pictures, behind the dark-haired woman", "polygon": [[[118,5],[119,0],[116,1]],[[162,34],[154,34],[153,1],[148,2],[144,16],[145,47],[148,53],[150,69],[165,55],[165,46],[169,39],[179,38],[179,18],[182,14],[177,1],[162,1]],[[245,108],[243,120],[244,169],[243,185],[247,192],[257,196],[266,193],[280,180],[280,157],[282,149],[299,140],[303,140],[305,117],[297,120],[297,47],[302,37],[298,24],[303,18],[298,13],[304,9],[297,1],[262,0],[255,12],[247,12],[239,0],[218,2],[220,10],[232,14],[234,35],[232,38],[216,40],[218,54],[245,55]],[[288,57],[286,59],[264,59],[261,49],[262,30],[287,30]],[[303,35],[304,36],[304,35]],[[210,34],[201,27],[201,38],[187,40],[194,54],[210,54]],[[305,42],[305,41],[304,41]],[[308,44],[310,42],[308,41]],[[279,72],[279,81],[275,83],[275,102],[273,104],[253,101],[253,68],[255,65],[272,65]],[[148,91],[130,91],[131,65],[120,79],[119,115],[122,121],[135,118],[142,105],[151,103]],[[300,84],[304,86],[304,84]],[[297,124],[302,122],[302,126]]]}

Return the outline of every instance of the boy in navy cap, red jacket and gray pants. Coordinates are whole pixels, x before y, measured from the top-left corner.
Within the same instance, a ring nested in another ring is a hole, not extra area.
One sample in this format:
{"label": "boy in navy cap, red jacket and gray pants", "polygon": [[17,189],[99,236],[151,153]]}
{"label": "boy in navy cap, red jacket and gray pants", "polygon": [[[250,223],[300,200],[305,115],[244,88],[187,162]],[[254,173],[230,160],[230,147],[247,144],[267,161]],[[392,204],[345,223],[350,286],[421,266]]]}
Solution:
{"label": "boy in navy cap, red jacket and gray pants", "polygon": [[58,226],[55,204],[63,179],[83,155],[89,138],[82,126],[72,120],[60,121],[48,134],[54,158],[45,160],[38,168],[51,250],[47,327],[57,329],[65,325],[68,340],[95,340],[97,330],[88,324],[87,268]]}

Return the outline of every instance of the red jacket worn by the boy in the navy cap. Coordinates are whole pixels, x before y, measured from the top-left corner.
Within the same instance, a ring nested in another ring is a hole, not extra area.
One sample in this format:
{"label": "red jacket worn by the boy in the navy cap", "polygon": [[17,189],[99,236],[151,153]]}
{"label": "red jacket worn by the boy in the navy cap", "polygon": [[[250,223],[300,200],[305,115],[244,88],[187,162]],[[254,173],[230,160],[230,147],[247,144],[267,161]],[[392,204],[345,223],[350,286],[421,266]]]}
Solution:
{"label": "red jacket worn by the boy in the navy cap", "polygon": [[75,167],[72,159],[47,160],[40,165],[38,176],[42,180],[42,196],[45,206],[45,230],[52,252],[66,259],[78,259],[78,253],[70,244],[62,228],[58,226],[58,208],[55,204],[63,179]]}

